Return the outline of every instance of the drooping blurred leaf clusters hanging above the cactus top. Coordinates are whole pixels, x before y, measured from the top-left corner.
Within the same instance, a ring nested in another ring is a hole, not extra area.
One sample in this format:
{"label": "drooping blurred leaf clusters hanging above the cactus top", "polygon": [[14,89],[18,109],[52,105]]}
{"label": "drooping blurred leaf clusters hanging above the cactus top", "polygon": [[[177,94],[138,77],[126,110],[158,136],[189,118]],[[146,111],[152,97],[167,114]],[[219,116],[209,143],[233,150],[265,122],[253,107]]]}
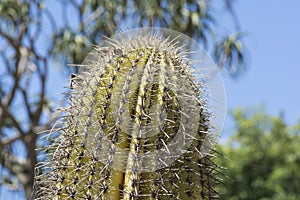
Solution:
{"label": "drooping blurred leaf clusters hanging above the cactus top", "polygon": [[53,36],[54,53],[66,56],[68,63],[80,64],[90,50],[88,47],[99,44],[103,35],[110,37],[118,29],[154,26],[185,33],[205,47],[209,44],[215,49],[214,57],[220,68],[232,77],[237,77],[246,67],[241,34],[216,41],[221,36],[217,34],[218,19],[211,1],[87,0],[78,3],[66,0],[64,4],[72,5],[72,19],[79,19],[71,20],[66,10],[65,26]]}

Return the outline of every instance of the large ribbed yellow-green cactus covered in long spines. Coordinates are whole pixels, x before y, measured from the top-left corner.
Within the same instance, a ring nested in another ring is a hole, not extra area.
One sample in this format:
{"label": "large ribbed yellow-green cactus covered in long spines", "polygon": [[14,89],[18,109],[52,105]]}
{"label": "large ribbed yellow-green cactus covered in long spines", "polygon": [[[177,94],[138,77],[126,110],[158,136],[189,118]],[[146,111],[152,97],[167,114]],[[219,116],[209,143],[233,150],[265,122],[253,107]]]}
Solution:
{"label": "large ribbed yellow-green cactus covered in long spines", "polygon": [[187,38],[144,28],[95,47],[72,78],[35,199],[217,197],[207,66],[194,67]]}

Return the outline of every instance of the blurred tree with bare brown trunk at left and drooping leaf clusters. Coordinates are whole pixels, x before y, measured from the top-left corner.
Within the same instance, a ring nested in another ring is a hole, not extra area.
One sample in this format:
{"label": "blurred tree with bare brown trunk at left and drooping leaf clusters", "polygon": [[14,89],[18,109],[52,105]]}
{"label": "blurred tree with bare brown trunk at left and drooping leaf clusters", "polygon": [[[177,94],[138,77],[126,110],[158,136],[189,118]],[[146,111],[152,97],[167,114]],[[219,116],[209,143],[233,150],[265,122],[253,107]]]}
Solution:
{"label": "blurred tree with bare brown trunk at left and drooping leaf clusters", "polygon": [[[54,4],[42,0],[0,2],[0,184],[23,188],[27,199],[40,153],[36,149],[46,145],[38,142],[43,134],[37,133],[49,130],[56,117],[47,93],[55,60],[80,64],[92,44],[124,29],[125,24],[125,28],[167,27],[204,45],[216,45],[216,61],[233,77],[245,64],[238,35],[219,42],[213,39],[217,19],[207,0],[64,0]],[[224,5],[232,11],[231,1]],[[61,18],[55,6],[64,8]]]}

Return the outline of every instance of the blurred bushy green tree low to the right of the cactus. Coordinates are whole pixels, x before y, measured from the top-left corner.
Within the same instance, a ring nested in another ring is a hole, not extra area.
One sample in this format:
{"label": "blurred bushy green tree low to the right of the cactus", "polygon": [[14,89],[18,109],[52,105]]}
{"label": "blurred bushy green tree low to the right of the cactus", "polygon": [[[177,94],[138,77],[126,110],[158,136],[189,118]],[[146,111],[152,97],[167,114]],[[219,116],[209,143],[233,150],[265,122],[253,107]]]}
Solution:
{"label": "blurred bushy green tree low to the right of the cactus", "polygon": [[238,109],[233,116],[236,133],[219,147],[228,156],[221,159],[224,199],[299,199],[300,123],[289,127],[263,109]]}

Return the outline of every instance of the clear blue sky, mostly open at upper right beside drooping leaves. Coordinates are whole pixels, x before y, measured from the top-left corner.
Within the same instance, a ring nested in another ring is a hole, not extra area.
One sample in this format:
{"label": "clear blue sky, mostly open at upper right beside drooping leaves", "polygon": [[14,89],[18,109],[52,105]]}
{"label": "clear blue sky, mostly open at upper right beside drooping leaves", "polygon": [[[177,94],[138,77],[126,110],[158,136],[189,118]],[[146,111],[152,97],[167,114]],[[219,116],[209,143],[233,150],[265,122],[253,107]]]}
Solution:
{"label": "clear blue sky, mostly open at upper right beside drooping leaves", "polygon": [[[227,110],[263,104],[269,114],[283,111],[286,122],[295,124],[300,118],[300,1],[238,0],[234,8],[250,57],[248,70],[238,80],[223,75]],[[220,27],[228,27],[221,32],[231,32],[233,25],[224,7],[217,5],[216,13]],[[62,73],[51,73],[48,89],[53,97],[60,97],[68,84]],[[227,116],[222,139],[233,131]],[[0,192],[0,199],[19,197]]]}

